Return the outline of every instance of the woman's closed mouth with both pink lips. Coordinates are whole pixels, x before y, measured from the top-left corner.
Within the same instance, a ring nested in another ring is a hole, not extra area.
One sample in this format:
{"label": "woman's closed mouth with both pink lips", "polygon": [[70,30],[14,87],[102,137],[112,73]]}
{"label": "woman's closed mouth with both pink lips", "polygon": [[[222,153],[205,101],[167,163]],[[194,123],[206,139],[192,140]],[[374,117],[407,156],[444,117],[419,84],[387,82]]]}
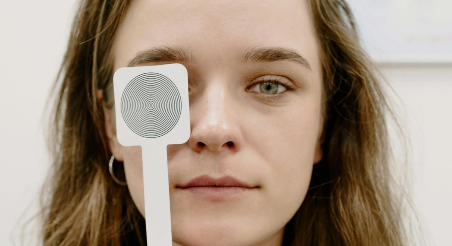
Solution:
{"label": "woman's closed mouth with both pink lips", "polygon": [[187,184],[177,185],[176,188],[203,199],[226,200],[244,197],[260,186],[241,182],[231,176],[214,179],[208,175],[202,175]]}

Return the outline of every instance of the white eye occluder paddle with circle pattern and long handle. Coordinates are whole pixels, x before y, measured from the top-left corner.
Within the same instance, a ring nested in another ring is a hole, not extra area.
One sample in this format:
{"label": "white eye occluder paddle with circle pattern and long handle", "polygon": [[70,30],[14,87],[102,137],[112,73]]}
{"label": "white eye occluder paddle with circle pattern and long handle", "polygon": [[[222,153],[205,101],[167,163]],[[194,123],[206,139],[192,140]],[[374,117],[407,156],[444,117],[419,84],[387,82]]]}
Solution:
{"label": "white eye occluder paddle with circle pattern and long handle", "polygon": [[119,68],[113,91],[118,142],[142,148],[148,245],[171,246],[166,147],[190,137],[187,69],[178,63]]}

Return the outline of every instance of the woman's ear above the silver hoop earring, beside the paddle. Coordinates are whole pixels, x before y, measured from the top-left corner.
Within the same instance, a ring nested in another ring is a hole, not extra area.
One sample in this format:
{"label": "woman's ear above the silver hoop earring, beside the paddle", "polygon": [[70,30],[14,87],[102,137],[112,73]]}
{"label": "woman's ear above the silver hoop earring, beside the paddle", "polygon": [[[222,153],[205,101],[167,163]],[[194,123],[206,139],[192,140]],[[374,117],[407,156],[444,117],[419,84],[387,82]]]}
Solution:
{"label": "woman's ear above the silver hoop earring, beside the paddle", "polygon": [[[101,102],[101,105],[103,105],[102,101],[104,100],[104,94],[103,90],[97,91],[97,99]],[[116,123],[115,123],[115,116],[114,116],[114,110],[106,109],[103,107],[104,110],[104,121],[105,121],[105,131],[108,138],[108,143],[110,147],[110,151],[114,155],[114,159],[117,161],[123,161],[123,153],[122,149],[123,146],[119,144],[117,138],[116,138]]]}

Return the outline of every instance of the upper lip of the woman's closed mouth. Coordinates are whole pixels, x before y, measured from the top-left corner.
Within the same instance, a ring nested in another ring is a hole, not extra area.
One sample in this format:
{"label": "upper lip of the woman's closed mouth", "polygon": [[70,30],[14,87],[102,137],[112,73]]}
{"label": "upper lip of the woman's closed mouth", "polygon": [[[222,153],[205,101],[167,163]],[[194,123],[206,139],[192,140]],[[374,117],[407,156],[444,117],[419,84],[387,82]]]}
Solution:
{"label": "upper lip of the woman's closed mouth", "polygon": [[219,179],[214,179],[208,175],[199,176],[187,184],[178,185],[179,188],[190,188],[190,187],[242,187],[242,188],[256,188],[257,186],[252,186],[241,182],[231,176],[224,176]]}

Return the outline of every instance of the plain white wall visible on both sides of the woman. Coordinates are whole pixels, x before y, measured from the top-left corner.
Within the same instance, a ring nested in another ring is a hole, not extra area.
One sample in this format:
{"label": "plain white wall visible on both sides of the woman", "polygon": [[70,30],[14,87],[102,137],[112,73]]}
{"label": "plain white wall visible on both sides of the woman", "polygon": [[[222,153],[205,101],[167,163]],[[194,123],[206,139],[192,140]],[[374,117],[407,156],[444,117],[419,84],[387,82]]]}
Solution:
{"label": "plain white wall visible on both sides of the woman", "polygon": [[[48,168],[43,110],[66,47],[74,2],[0,2],[0,245],[21,245],[19,227],[38,209]],[[405,104],[416,204],[432,245],[450,246],[452,66],[382,69]]]}

